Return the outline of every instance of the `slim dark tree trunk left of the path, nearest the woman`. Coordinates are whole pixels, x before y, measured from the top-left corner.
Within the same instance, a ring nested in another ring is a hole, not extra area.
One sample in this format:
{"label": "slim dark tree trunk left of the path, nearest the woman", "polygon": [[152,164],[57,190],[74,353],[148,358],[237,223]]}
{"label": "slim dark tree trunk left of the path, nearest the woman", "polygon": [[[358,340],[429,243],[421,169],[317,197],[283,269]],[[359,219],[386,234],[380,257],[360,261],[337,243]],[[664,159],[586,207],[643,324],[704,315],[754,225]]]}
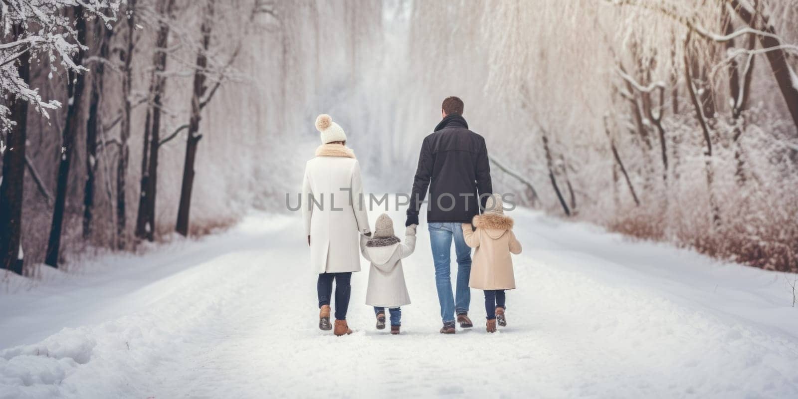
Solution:
{"label": "slim dark tree trunk left of the path, nearest the woman", "polygon": [[180,187],[180,206],[177,210],[177,223],[175,231],[180,235],[188,235],[189,211],[192,205],[192,188],[194,185],[194,160],[196,159],[197,144],[202,139],[199,134],[199,120],[202,119],[201,101],[207,86],[205,85],[205,68],[207,66],[207,49],[211,43],[211,29],[213,27],[215,0],[208,0],[203,16],[200,33],[202,34],[202,48],[197,53],[196,71],[194,72],[194,93],[192,95],[192,114],[188,123],[188,138],[186,140],[186,158],[183,166],[183,184]]}

